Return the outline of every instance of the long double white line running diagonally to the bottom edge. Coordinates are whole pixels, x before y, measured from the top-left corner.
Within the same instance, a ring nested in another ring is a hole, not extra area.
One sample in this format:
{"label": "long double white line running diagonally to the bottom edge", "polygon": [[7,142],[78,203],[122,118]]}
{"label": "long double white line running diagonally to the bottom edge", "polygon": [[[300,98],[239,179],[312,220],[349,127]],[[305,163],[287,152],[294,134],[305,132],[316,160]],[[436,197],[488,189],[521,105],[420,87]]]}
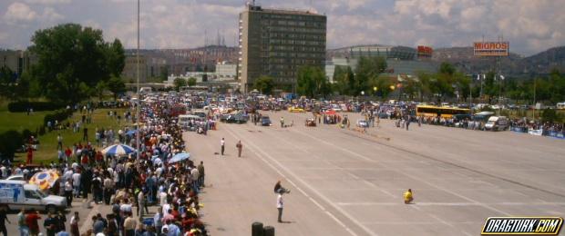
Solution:
{"label": "long double white line running diagonally to the bottom edge", "polygon": [[[237,135],[235,135],[235,133],[231,132],[230,129],[226,128],[226,129],[224,129],[224,130],[225,130],[226,132],[230,133],[233,137],[238,137]],[[241,140],[246,140],[246,141],[248,141],[248,139],[243,138],[243,137],[241,137],[241,136],[240,136],[240,138],[241,138]],[[358,235],[358,234],[356,234],[353,230],[351,230],[349,227],[347,227],[347,225],[345,225],[343,221],[340,221],[339,219],[337,219],[337,217],[335,217],[334,214],[332,214],[332,212],[325,210],[324,206],[322,206],[319,202],[315,201],[312,197],[310,197],[310,196],[308,195],[308,193],[304,192],[300,187],[298,187],[294,182],[292,182],[288,177],[286,177],[286,175],[284,175],[278,168],[276,168],[274,165],[272,165],[271,162],[267,162],[267,160],[265,160],[264,158],[262,158],[262,155],[259,154],[258,152],[262,152],[263,155],[265,155],[266,157],[268,157],[272,162],[276,163],[276,164],[277,164],[280,168],[282,168],[285,172],[288,172],[288,173],[290,173],[291,175],[293,175],[293,178],[295,178],[295,179],[301,181],[300,179],[298,179],[298,178],[293,174],[293,172],[290,172],[290,171],[289,171],[286,167],[284,167],[280,162],[277,162],[275,159],[272,158],[271,155],[269,155],[269,154],[266,153],[266,152],[263,152],[261,149],[259,149],[259,148],[258,148],[255,144],[253,144],[252,142],[246,142],[246,143],[248,143],[248,145],[251,147],[250,150],[251,150],[253,153],[255,153],[255,155],[256,155],[257,157],[259,157],[259,159],[261,159],[262,162],[265,162],[267,165],[269,165],[269,167],[272,168],[272,170],[274,170],[275,172],[279,173],[284,179],[287,179],[287,181],[288,181],[289,183],[291,183],[294,188],[296,188],[299,192],[303,193],[303,195],[306,196],[311,202],[313,202],[318,208],[320,208],[322,211],[324,211],[326,214],[328,214],[328,215],[329,215],[334,221],[336,221],[339,225],[341,225],[342,227],[344,227],[345,231],[348,231],[351,235],[354,235],[354,236],[357,236],[357,235]],[[257,152],[256,152],[255,150],[253,150],[253,149],[257,150]],[[301,182],[303,182],[303,181],[301,181]],[[308,185],[308,184],[305,183],[305,182],[303,182],[303,184],[304,184],[306,187],[308,187],[309,189],[313,190],[312,186]],[[315,192],[315,191],[313,190],[313,192]],[[317,193],[318,195],[321,195],[319,192],[316,192],[316,193]],[[328,202],[328,201],[326,200],[326,202]],[[328,202],[328,203],[331,204],[331,202]],[[338,211],[340,211],[340,210],[338,209]],[[342,211],[343,211],[343,210],[342,210]],[[342,213],[344,213],[344,212],[342,212]],[[350,218],[350,216],[348,216],[347,214],[344,214],[344,215],[347,216],[348,218]],[[350,220],[353,221],[353,219],[351,219],[351,218],[350,218]],[[354,222],[357,223],[356,221],[354,221]],[[358,223],[357,223],[357,224],[358,224]],[[360,224],[359,224],[359,226],[361,226],[361,228],[364,229],[364,230],[365,230],[366,232],[368,232],[369,234],[377,235],[375,232],[370,231],[370,230],[367,229],[365,226],[360,225]]]}

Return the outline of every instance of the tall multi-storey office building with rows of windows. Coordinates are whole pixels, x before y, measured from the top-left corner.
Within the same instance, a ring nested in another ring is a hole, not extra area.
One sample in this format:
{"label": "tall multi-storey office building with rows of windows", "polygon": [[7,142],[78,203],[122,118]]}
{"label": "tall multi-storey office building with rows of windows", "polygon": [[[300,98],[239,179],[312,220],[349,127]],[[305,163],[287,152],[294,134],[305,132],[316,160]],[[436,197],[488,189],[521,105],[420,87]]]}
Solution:
{"label": "tall multi-storey office building with rows of windows", "polygon": [[247,5],[240,14],[241,92],[251,91],[261,75],[271,76],[276,87],[293,91],[300,66],[324,69],[325,34],[325,15]]}

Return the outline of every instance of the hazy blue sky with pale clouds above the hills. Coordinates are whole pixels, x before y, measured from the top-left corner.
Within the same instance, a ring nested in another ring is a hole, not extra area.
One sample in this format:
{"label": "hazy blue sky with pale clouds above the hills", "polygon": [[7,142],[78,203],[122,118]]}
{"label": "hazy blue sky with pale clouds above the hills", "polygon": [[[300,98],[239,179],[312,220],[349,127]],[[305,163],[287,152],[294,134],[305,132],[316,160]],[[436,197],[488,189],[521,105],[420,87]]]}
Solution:
{"label": "hazy blue sky with pale clouds above the hills", "polygon": [[[236,42],[244,0],[141,0],[142,48],[190,48],[204,34]],[[432,47],[469,46],[473,41],[510,42],[530,55],[565,45],[562,0],[257,0],[263,7],[315,10],[328,16],[329,48],[354,44]],[[100,28],[107,40],[136,44],[135,0],[2,0],[0,47],[23,49],[40,28],[78,23]]]}

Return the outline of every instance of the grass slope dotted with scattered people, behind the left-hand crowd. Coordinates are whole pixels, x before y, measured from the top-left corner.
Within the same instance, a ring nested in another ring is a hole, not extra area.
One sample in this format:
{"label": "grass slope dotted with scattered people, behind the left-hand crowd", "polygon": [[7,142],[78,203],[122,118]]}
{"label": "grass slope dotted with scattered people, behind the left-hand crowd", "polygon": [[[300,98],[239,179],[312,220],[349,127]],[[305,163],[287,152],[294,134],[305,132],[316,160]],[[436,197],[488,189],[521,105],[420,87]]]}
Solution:
{"label": "grass slope dotted with scattered people, behind the left-hand crowd", "polygon": [[[92,114],[92,123],[87,123],[87,129],[88,129],[88,141],[90,141],[91,143],[95,143],[95,134],[94,132],[96,131],[96,128],[98,127],[98,129],[100,128],[104,128],[104,129],[113,129],[115,133],[118,132],[119,129],[122,129],[128,125],[128,123],[124,122],[123,119],[123,113],[126,111],[127,109],[98,109],[95,110],[94,113]],[[118,124],[118,121],[116,120],[115,116],[110,118],[108,116],[108,111],[115,111],[117,112],[120,116],[122,116],[121,122],[120,124]],[[49,113],[49,112],[46,112]],[[10,113],[13,114],[13,113]],[[2,114],[0,114],[2,115]],[[23,113],[24,116],[26,116],[26,113]],[[38,116],[38,115],[37,115]],[[67,119],[67,121],[65,121],[64,123],[72,123],[75,121],[79,121],[81,119],[82,113],[74,113],[73,116],[69,119]],[[1,117],[1,116],[0,116]],[[8,119],[12,119],[10,117],[12,116],[6,116]],[[0,120],[0,121],[4,121],[4,120]],[[39,123],[43,122],[43,115],[41,115],[41,121]],[[38,125],[38,124],[37,124]],[[36,127],[37,125],[33,126]],[[84,127],[84,126],[83,126]],[[30,129],[31,130],[31,129]],[[35,131],[35,128],[34,128]],[[61,135],[63,136],[63,148],[65,149],[67,146],[71,147],[73,145],[73,143],[83,143],[85,144],[86,142],[82,142],[82,137],[83,137],[83,132],[82,132],[82,127],[80,132],[78,133],[73,133],[72,128],[68,129],[68,130],[62,130],[62,131],[52,131],[52,132],[47,132],[46,134],[44,134],[43,136],[39,137],[39,149],[34,152],[34,163],[49,163],[51,161],[56,161],[56,135],[57,133],[61,133]],[[25,162],[26,161],[26,153],[16,153],[15,154],[15,162]]]}

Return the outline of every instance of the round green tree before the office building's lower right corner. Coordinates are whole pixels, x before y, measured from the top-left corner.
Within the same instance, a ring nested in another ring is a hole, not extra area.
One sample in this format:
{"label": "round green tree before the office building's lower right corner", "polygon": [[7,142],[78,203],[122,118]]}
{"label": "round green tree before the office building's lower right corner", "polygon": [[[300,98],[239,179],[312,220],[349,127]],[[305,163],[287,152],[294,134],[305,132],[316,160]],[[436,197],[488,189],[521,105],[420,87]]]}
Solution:
{"label": "round green tree before the office building's lower right corner", "polygon": [[331,92],[331,85],[325,77],[324,71],[319,67],[303,66],[298,70],[296,81],[297,92],[310,98],[317,95],[327,95]]}

